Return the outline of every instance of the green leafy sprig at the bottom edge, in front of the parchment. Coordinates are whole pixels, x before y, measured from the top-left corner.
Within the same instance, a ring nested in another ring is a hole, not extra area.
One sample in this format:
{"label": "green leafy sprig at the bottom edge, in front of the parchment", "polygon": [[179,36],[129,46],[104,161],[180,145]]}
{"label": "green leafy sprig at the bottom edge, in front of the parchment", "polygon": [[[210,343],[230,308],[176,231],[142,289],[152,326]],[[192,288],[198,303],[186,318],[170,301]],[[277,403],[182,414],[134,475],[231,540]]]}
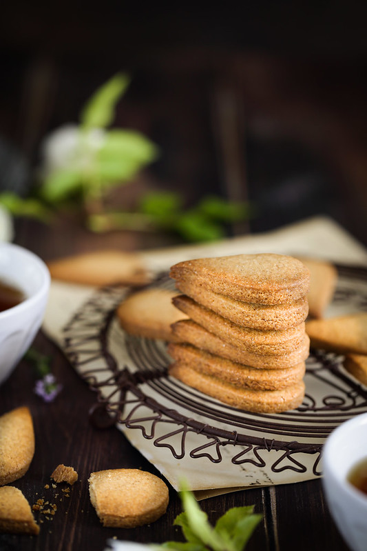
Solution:
{"label": "green leafy sprig at the bottom edge, in front of the parchment", "polygon": [[250,505],[229,509],[212,526],[189,490],[182,490],[180,499],[184,512],[176,517],[174,524],[182,528],[187,541],[167,541],[154,545],[156,550],[243,551],[262,520],[262,514],[255,514]]}

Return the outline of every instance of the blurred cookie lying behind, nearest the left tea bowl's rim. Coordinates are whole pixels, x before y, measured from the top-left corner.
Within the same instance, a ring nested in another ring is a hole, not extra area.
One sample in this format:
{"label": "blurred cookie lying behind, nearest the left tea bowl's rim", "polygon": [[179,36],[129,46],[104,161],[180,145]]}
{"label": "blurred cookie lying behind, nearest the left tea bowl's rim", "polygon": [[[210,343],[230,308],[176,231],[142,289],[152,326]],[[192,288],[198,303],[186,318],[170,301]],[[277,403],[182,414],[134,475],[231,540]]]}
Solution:
{"label": "blurred cookie lying behind, nearest the left tea bowl's rim", "polygon": [[52,279],[82,285],[142,285],[149,281],[143,261],[134,252],[98,250],[48,262]]}

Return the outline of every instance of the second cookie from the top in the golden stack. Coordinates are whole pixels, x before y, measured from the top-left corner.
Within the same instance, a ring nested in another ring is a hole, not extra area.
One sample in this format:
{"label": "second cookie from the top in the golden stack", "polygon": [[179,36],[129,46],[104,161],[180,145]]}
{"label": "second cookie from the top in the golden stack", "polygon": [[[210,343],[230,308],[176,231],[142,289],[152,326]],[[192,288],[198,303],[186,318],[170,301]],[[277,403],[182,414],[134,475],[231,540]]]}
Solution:
{"label": "second cookie from the top in the golden stack", "polygon": [[252,329],[288,329],[300,325],[308,314],[306,297],[286,304],[262,305],[231,299],[194,283],[176,281],[176,286],[183,294],[187,294],[205,308],[209,308],[237,325],[244,325],[244,327]]}

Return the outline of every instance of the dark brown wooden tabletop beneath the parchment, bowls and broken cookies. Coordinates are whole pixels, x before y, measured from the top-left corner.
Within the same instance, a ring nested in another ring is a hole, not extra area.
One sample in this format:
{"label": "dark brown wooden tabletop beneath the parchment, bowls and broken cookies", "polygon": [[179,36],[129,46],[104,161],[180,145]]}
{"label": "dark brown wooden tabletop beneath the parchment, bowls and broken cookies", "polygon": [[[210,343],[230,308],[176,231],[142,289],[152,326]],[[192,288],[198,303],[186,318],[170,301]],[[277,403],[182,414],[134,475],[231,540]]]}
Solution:
{"label": "dark brown wooden tabletop beneath the parchment, bowls and broken cookies", "polygon": [[[16,241],[45,260],[102,246],[133,249],[154,245],[143,236],[133,234],[95,237],[84,230],[75,232],[68,226],[61,232],[60,228],[51,230],[30,221],[17,225]],[[156,241],[156,244],[161,246],[162,242]],[[43,523],[37,537],[0,534],[1,551],[101,551],[109,538],[146,543],[182,541],[180,528],[173,525],[181,512],[180,499],[172,489],[167,513],[155,523],[134,530],[102,527],[89,499],[90,472],[125,467],[159,473],[119,430],[114,427],[98,430],[92,426],[88,412],[96,401],[94,392],[42,332],[33,346],[52,357],[52,372],[62,383],[63,391],[54,402],[44,403],[32,392],[34,372],[23,360],[0,388],[0,414],[19,405],[29,406],[34,419],[36,451],[30,469],[14,485],[31,504],[44,498],[56,503],[57,510],[51,520],[44,514],[39,515]],[[79,479],[70,497],[50,484],[50,474],[59,463],[72,465],[78,471]],[[348,550],[328,512],[319,479],[242,490],[200,502],[212,523],[227,509],[238,505],[255,505],[255,511],[263,515],[262,523],[247,545],[248,551]]]}

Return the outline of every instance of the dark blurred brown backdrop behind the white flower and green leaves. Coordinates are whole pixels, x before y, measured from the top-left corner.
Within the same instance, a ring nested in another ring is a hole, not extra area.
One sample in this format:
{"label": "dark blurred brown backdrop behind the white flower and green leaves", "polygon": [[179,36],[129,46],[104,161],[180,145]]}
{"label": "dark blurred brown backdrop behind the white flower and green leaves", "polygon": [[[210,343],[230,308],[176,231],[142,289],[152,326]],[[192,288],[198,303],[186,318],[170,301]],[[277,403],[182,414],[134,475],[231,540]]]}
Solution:
{"label": "dark blurred brown backdrop behind the white flower and green leaves", "polygon": [[160,155],[125,190],[251,201],[229,234],[328,214],[367,245],[366,2],[7,2],[0,187],[25,196],[41,143],[116,72],[114,126]]}

